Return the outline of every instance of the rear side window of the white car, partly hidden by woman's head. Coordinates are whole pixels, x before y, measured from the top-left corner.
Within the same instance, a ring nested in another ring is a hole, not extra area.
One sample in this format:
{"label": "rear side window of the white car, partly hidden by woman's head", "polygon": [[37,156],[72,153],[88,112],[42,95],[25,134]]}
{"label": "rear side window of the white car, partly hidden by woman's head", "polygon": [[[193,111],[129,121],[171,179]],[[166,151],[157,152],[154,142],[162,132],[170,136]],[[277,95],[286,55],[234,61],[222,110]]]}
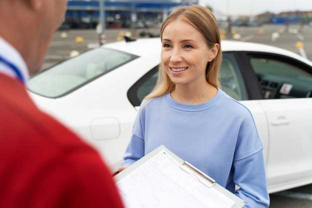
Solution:
{"label": "rear side window of the white car, partly hidden by woman's head", "polygon": [[[134,106],[141,102],[155,87],[158,77],[158,65],[138,80],[128,91],[128,98]],[[247,100],[247,90],[238,64],[232,53],[225,53],[220,68],[221,89],[236,100]]]}

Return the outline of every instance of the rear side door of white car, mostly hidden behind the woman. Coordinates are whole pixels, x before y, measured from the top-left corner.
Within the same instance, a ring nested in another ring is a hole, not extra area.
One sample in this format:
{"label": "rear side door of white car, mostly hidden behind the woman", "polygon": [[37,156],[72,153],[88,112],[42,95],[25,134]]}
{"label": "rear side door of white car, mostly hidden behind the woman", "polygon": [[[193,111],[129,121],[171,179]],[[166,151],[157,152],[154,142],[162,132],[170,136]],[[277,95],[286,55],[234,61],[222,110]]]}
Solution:
{"label": "rear side door of white car, mostly hidden behind the woman", "polygon": [[[268,147],[268,129],[263,109],[259,105],[258,101],[255,100],[257,96],[255,96],[254,91],[259,91],[259,89],[254,88],[258,87],[258,85],[255,84],[255,81],[253,81],[250,76],[246,78],[246,75],[242,74],[242,70],[250,71],[246,68],[243,69],[241,67],[242,65],[243,62],[240,61],[238,53],[227,52],[223,54],[223,61],[219,73],[219,80],[222,85],[221,88],[228,95],[236,100],[239,100],[251,111],[264,146],[264,159],[266,159]],[[129,89],[129,101],[137,109],[139,108],[144,97],[153,90],[156,84],[157,76],[158,66],[155,66]],[[254,79],[256,80],[256,77],[254,77]],[[248,80],[248,83],[246,80]]]}

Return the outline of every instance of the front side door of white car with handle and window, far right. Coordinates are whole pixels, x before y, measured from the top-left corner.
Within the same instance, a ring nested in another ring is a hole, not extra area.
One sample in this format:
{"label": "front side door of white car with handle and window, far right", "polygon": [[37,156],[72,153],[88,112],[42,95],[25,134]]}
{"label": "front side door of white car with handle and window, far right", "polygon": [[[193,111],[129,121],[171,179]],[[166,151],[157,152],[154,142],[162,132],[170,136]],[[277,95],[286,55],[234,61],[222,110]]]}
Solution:
{"label": "front side door of white car with handle and window, far right", "polygon": [[258,77],[269,128],[267,179],[271,191],[312,179],[312,67],[294,58],[248,53]]}

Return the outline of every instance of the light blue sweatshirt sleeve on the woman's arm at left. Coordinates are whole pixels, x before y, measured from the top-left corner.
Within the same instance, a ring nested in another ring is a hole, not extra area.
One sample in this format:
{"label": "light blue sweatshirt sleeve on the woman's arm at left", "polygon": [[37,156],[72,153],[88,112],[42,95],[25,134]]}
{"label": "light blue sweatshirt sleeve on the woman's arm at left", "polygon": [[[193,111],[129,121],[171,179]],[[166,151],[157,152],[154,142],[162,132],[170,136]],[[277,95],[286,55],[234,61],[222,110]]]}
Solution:
{"label": "light blue sweatshirt sleeve on the woman's arm at left", "polygon": [[135,124],[133,126],[130,143],[124,155],[122,167],[130,166],[145,155],[144,145],[145,109],[141,105]]}

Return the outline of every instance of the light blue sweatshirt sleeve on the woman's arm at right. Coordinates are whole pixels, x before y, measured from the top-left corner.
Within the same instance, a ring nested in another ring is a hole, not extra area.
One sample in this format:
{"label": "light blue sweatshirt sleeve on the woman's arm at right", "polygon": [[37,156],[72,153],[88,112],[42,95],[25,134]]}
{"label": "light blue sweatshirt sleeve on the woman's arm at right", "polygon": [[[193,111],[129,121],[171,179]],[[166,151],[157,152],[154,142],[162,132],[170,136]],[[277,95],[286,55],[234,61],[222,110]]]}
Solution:
{"label": "light blue sweatshirt sleeve on the woman's arm at right", "polygon": [[254,120],[249,114],[242,122],[233,161],[235,194],[245,200],[244,208],[268,208],[263,147]]}

